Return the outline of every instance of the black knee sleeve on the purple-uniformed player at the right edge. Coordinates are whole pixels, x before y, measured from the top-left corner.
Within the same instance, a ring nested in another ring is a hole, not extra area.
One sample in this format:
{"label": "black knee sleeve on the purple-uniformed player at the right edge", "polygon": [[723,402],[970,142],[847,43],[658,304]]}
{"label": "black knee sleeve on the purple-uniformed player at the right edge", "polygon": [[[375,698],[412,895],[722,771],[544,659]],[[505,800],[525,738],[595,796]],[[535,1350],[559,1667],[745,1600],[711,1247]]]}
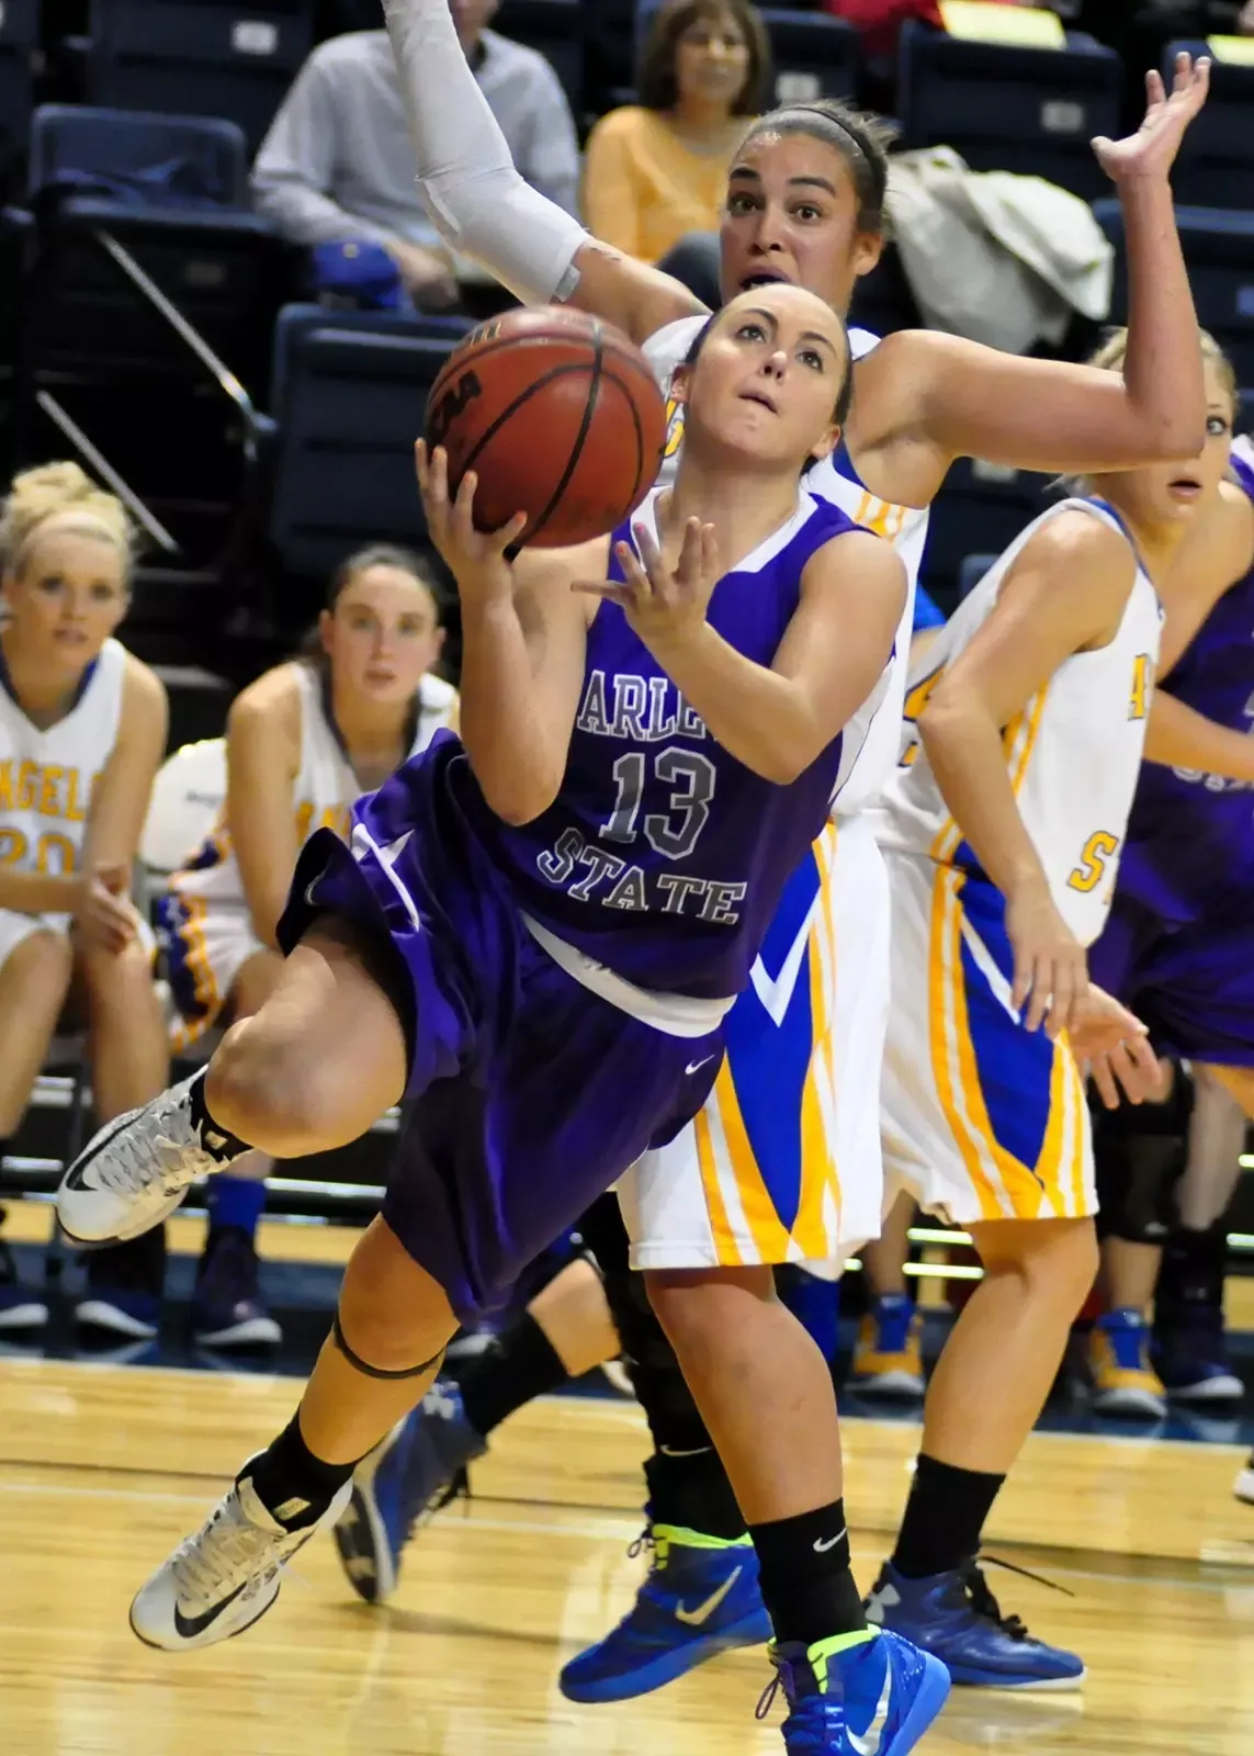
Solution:
{"label": "black knee sleeve on the purple-uniformed player at the right edge", "polygon": [[1163,1103],[1094,1113],[1098,1236],[1163,1243],[1175,1213],[1175,1185],[1189,1154],[1193,1082],[1177,1068]]}

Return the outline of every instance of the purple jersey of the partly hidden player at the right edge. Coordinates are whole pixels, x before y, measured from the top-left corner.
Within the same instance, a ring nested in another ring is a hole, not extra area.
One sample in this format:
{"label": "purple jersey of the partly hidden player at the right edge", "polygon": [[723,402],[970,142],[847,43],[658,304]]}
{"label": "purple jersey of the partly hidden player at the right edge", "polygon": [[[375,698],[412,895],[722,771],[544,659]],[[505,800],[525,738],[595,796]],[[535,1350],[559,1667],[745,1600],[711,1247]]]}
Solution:
{"label": "purple jersey of the partly hidden player at the right edge", "polygon": [[[1233,455],[1254,499],[1254,467]],[[1159,685],[1208,720],[1254,734],[1254,569],[1219,599]],[[1254,787],[1157,762],[1142,767],[1119,867],[1119,894],[1166,922],[1210,911],[1254,883]]]}

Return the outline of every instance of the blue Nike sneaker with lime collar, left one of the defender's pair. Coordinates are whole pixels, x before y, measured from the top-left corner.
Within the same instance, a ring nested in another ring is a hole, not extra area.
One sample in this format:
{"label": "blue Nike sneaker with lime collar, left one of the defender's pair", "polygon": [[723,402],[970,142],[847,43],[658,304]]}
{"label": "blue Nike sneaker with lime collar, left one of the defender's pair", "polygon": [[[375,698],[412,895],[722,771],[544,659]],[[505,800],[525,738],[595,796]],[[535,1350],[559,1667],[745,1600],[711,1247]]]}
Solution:
{"label": "blue Nike sneaker with lime collar, left one of the defender's pair", "polygon": [[599,1645],[562,1670],[559,1686],[567,1702],[627,1702],[718,1652],[771,1638],[748,1536],[718,1542],[659,1524],[631,1552],[646,1544],[653,1566],[634,1605]]}

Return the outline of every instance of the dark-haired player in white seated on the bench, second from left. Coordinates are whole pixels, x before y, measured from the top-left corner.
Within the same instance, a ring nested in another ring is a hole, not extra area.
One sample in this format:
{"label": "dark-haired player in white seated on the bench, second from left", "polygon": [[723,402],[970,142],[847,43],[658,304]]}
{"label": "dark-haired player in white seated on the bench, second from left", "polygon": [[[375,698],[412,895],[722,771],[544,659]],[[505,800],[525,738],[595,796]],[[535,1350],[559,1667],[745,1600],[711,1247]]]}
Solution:
{"label": "dark-haired player in white seated on the bench, second from left", "polygon": [[[235,699],[225,810],[158,903],[183,1020],[176,1050],[211,1026],[246,1018],[270,994],[283,966],[276,927],[306,838],[323,825],[346,832],[358,794],[453,720],[457,692],[430,674],[443,643],[423,564],[404,550],[369,548],[334,576],[300,658]],[[269,1166],[249,1154],[209,1185],[191,1310],[205,1347],[281,1336],[260,1298],[255,1249]]]}

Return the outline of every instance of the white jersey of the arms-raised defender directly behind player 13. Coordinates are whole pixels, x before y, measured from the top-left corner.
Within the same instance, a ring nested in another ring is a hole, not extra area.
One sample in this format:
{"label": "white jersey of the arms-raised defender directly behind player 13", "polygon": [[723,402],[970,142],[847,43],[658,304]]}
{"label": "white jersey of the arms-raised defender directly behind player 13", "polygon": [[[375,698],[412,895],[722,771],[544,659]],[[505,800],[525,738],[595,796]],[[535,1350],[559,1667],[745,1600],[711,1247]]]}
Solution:
{"label": "white jersey of the arms-raised defender directly behind player 13", "polygon": [[[683,407],[671,395],[671,379],[676,365],[687,360],[692,342],[708,321],[710,318],[680,318],[678,323],[667,323],[645,342],[645,358],[667,399],[666,458],[659,478],[662,485],[674,478],[683,443]],[[848,341],[854,358],[862,360],[878,346],[880,337],[869,330],[852,328]],[[878,799],[901,753],[901,715],[906,701],[915,587],[927,543],[927,507],[892,506],[889,500],[876,499],[857,479],[845,446],[824,458],[822,464],[813,465],[806,474],[806,488],[820,500],[840,506],[855,523],[892,543],[906,565],[908,579],[906,608],[892,658],[871,695],[845,727],[847,759],[841,762],[840,790],[832,799],[832,817],[840,818],[850,817]]]}

